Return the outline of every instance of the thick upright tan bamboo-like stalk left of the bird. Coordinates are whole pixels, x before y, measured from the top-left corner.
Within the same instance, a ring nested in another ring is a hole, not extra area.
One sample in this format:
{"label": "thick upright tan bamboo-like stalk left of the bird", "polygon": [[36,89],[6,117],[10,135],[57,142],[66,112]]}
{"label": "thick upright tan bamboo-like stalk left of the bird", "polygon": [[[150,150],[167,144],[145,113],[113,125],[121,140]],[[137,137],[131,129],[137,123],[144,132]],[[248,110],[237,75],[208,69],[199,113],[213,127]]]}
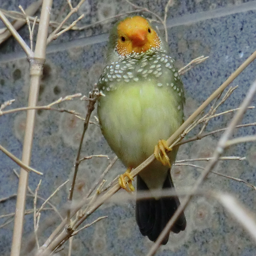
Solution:
{"label": "thick upright tan bamboo-like stalk left of the bird", "polygon": [[[34,107],[37,104],[39,83],[42,75],[43,64],[46,53],[46,40],[50,20],[52,0],[44,0],[42,4],[41,19],[38,27],[37,42],[35,45],[34,58],[30,61],[30,91],[28,106]],[[27,111],[25,138],[22,151],[22,162],[29,165],[34,135],[35,109]],[[26,204],[27,181],[29,173],[20,169],[18,195],[16,201],[14,231],[12,237],[11,256],[19,256],[22,241],[23,219]]]}

